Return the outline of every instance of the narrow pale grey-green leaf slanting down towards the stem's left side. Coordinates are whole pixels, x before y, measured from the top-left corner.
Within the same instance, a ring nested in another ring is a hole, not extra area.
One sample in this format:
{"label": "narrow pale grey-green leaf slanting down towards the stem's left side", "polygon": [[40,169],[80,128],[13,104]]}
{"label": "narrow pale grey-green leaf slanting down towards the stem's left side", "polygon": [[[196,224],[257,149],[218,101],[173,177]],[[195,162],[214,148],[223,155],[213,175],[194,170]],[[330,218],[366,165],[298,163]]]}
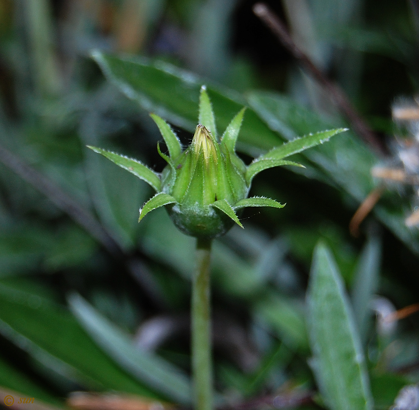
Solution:
{"label": "narrow pale grey-green leaf slanting down towards the stem's left side", "polygon": [[191,404],[191,384],[180,369],[158,356],[135,348],[127,335],[77,293],[70,295],[68,301],[80,324],[127,372],[171,400],[183,405]]}

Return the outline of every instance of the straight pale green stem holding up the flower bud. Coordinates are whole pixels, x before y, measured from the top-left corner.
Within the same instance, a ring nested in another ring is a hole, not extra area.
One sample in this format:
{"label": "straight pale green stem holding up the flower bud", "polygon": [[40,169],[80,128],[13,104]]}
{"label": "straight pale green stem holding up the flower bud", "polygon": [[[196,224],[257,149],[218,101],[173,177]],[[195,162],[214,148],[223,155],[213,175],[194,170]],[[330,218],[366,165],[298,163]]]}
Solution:
{"label": "straight pale green stem holding up the flower bud", "polygon": [[192,281],[192,372],[195,410],[212,410],[209,261],[211,241],[197,239],[197,271]]}

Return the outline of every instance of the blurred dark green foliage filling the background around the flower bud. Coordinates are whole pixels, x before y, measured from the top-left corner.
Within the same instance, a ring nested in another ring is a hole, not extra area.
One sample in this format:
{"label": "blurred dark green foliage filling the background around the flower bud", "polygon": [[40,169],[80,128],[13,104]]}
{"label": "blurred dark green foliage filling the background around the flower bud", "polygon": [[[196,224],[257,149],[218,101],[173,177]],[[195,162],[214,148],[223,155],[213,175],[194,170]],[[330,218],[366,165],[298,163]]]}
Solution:
{"label": "blurred dark green foliage filling the background around the flower bud", "polygon": [[[305,170],[255,178],[252,195],[287,206],[246,210],[245,229],[214,245],[218,400],[237,409],[328,405],[308,364],[305,318],[313,249],[322,240],[351,295],[375,408],[385,409],[419,380],[418,316],[394,315],[419,298],[419,235],[404,223],[418,205],[417,186],[386,186],[357,238],[348,224],[380,184],[371,168],[405,165],[395,137],[414,141],[393,123],[391,106],[417,93],[419,4],[267,3],[344,89],[386,156],[347,132],[301,155]],[[118,392],[118,405],[147,405],[147,397],[190,403],[194,239],[165,210],[138,224],[148,185],[85,145],[160,171],[161,137],[148,113],[171,122],[186,145],[203,83],[219,130],[249,107],[239,137],[246,162],[284,140],[348,125],[252,6],[0,0],[1,392],[35,397],[44,408],[101,403],[70,396],[75,391]]]}

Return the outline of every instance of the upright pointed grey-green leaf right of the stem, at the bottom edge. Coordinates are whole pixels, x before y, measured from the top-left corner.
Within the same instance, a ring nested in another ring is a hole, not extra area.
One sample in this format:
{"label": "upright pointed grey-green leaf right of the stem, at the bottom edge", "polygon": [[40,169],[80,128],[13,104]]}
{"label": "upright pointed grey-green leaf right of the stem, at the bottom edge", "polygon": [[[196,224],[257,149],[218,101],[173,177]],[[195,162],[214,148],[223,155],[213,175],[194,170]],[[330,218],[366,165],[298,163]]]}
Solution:
{"label": "upright pointed grey-green leaf right of the stem, at the bottom edge", "polygon": [[370,410],[365,359],[351,306],[330,250],[318,244],[307,295],[312,367],[332,410]]}

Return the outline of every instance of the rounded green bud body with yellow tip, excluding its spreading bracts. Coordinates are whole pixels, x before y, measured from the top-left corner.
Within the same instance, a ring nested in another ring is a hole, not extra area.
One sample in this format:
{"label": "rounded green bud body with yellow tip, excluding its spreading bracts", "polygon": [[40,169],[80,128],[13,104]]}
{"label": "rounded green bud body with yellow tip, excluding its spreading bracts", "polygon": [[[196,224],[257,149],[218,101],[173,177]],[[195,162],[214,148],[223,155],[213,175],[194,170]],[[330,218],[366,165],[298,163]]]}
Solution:
{"label": "rounded green bud body with yellow tip, excluding its spreading bracts", "polygon": [[[226,200],[233,206],[248,194],[245,175],[231,161],[245,164],[225,143],[218,143],[207,128],[199,124],[189,148],[163,171],[162,192],[176,199],[166,205],[175,225],[185,234],[214,238],[225,234],[234,224],[222,210],[211,206]],[[166,157],[167,158],[167,157]],[[165,159],[166,159],[165,158]],[[175,174],[175,177],[173,175]]]}

